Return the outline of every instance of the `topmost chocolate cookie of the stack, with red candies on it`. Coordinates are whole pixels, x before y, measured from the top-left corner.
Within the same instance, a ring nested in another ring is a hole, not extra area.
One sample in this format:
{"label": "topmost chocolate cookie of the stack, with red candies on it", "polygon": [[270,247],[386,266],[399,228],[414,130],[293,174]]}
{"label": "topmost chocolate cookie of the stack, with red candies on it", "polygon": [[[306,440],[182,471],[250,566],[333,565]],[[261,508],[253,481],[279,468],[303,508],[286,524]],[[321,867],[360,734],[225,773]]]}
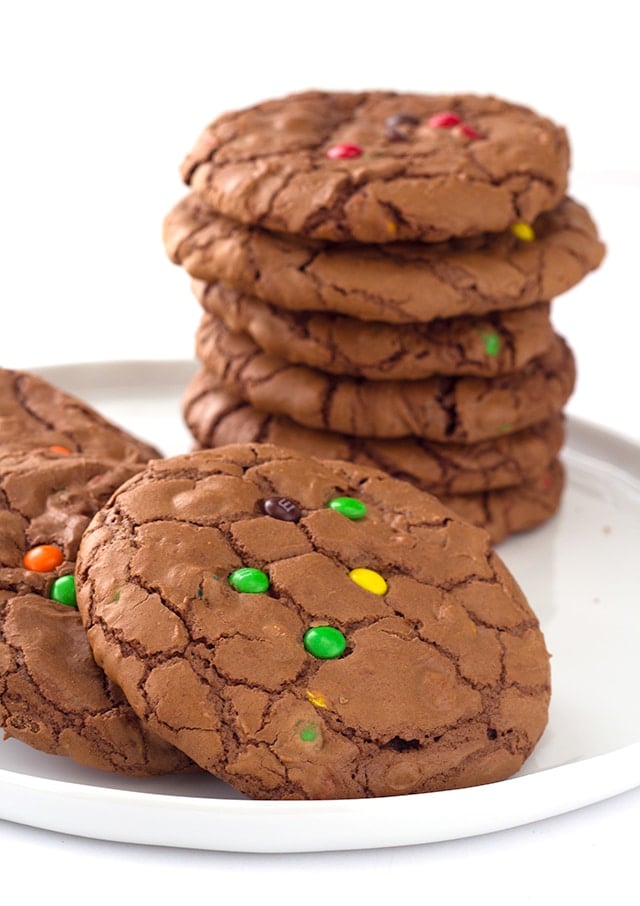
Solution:
{"label": "topmost chocolate cookie of the stack, with red candies on it", "polygon": [[565,194],[564,129],[494,97],[307,91],[218,117],[182,176],[284,233],[437,242],[507,229]]}

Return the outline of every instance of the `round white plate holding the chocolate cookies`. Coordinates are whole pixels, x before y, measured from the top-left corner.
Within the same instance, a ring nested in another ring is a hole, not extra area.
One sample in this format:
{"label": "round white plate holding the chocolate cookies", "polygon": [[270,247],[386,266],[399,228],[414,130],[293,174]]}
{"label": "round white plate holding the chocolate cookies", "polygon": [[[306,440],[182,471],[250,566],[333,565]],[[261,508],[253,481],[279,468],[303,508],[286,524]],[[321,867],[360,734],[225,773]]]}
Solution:
{"label": "round white plate holding the chocolate cookies", "polygon": [[[194,370],[134,362],[39,373],[172,455],[190,446],[180,397]],[[9,740],[0,818],[122,842],[306,852],[488,833],[640,785],[640,449],[572,419],[564,460],[560,513],[500,545],[553,654],[549,726],[517,776],[413,796],[251,802],[213,778],[121,778]]]}

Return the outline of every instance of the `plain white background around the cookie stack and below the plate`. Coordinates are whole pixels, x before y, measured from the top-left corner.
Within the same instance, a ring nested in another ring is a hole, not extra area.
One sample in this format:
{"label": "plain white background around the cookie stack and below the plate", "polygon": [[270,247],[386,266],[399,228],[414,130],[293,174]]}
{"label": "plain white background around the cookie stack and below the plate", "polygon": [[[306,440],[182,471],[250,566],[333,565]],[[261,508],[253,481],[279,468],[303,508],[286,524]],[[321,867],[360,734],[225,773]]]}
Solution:
{"label": "plain white background around the cookie stack and below the plate", "polygon": [[[311,87],[494,93],[566,125],[571,190],[609,250],[554,306],[579,366],[568,411],[640,440],[636,5],[58,0],[1,10],[1,365],[192,356],[198,312],[160,230],[185,191],[180,161],[219,113]],[[213,901],[232,890],[239,902],[411,891],[626,903],[637,902],[639,817],[635,790],[512,831],[370,853],[158,850],[3,822],[0,847],[34,899],[70,882],[68,902],[122,891],[126,902]]]}

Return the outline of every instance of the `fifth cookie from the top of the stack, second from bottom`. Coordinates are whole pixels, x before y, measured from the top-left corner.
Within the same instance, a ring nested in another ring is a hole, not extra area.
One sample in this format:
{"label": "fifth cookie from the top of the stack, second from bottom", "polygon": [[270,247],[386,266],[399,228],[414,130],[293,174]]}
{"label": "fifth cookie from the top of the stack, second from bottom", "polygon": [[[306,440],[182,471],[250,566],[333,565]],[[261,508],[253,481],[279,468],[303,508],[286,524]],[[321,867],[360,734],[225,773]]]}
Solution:
{"label": "fifth cookie from the top of the stack, second from bottom", "polygon": [[189,381],[182,412],[197,445],[204,449],[271,443],[322,459],[343,459],[378,468],[438,497],[531,482],[541,477],[558,456],[565,438],[561,414],[476,444],[420,438],[384,440],[316,431],[284,415],[255,409],[222,388],[204,369]]}

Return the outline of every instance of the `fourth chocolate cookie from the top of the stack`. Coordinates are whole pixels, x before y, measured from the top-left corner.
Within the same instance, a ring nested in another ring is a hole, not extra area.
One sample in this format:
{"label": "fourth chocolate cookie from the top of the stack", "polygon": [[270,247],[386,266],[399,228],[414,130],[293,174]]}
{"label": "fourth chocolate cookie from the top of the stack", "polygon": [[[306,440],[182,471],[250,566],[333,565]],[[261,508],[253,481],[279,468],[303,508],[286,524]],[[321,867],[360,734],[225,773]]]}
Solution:
{"label": "fourth chocolate cookie from the top of the stack", "polygon": [[462,443],[498,437],[560,412],[575,381],[573,354],[559,336],[521,371],[495,378],[341,378],[289,365],[207,314],[196,352],[225,387],[257,409],[309,428],[365,437]]}

